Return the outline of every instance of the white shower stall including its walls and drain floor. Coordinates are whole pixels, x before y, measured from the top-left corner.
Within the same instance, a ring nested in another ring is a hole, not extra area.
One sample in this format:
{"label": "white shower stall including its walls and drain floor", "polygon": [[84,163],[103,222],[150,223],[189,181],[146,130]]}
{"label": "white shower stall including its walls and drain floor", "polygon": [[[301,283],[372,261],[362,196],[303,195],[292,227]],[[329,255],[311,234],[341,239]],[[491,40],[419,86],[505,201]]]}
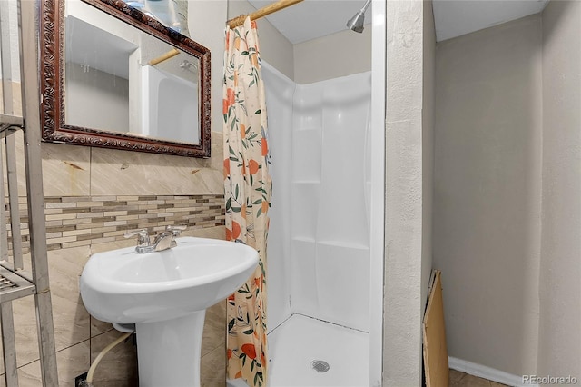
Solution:
{"label": "white shower stall including its walls and drain floor", "polygon": [[294,84],[264,65],[270,385],[369,385],[371,73]]}

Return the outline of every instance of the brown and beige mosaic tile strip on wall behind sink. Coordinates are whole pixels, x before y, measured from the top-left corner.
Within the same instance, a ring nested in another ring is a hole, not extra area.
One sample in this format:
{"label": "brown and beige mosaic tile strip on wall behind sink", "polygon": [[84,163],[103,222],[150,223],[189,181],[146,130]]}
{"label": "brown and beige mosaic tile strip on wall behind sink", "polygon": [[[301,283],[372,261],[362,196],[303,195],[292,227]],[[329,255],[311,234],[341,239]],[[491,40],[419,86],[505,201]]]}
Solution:
{"label": "brown and beige mosaic tile strip on wall behind sink", "polygon": [[[28,253],[23,199],[20,203],[23,253]],[[221,226],[224,197],[222,194],[45,197],[44,213],[48,250],[56,250],[123,240],[123,234],[129,230],[144,228],[156,233],[169,224],[187,225],[188,230]]]}

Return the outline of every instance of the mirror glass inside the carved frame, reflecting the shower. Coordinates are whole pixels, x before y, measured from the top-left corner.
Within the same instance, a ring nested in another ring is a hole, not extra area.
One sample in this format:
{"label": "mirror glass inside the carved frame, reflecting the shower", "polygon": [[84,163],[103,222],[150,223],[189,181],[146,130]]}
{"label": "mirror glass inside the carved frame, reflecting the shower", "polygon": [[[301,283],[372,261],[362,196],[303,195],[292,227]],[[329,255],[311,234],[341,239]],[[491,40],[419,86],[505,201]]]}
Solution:
{"label": "mirror glass inside the carved frame, reflecting the shower", "polygon": [[197,57],[80,1],[64,21],[65,124],[200,143]]}

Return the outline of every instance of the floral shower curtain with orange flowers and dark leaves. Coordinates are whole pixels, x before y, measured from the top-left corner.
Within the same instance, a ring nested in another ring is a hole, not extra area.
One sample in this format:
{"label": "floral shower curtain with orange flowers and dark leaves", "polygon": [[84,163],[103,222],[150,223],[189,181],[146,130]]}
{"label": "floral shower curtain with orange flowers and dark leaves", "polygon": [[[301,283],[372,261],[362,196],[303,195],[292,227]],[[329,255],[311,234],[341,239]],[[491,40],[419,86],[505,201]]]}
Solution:
{"label": "floral shower curtain with orange flowers and dark leaves", "polygon": [[271,176],[256,24],[226,27],[223,84],[226,239],[255,248],[260,263],[228,299],[228,377],[266,385],[266,239]]}

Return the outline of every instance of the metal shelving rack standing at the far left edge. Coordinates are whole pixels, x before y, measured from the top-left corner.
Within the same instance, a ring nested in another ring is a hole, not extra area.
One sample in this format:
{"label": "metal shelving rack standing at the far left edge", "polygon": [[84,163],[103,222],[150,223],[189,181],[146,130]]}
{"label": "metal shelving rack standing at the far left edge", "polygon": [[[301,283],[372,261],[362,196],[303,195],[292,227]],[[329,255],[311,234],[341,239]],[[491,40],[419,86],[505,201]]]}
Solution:
{"label": "metal shelving rack standing at the far left edge", "polygon": [[[12,0],[18,5],[18,46],[20,55],[20,94],[22,117],[14,114],[9,3],[0,1],[0,53],[2,60],[2,94],[4,114],[0,114],[0,138],[5,142],[5,154],[0,149],[0,170],[6,171],[10,224],[6,225],[5,187],[0,182],[0,324],[4,347],[6,386],[18,386],[15,324],[12,302],[34,295],[38,346],[43,386],[57,386],[54,323],[46,253],[46,224],[42,156],[40,152],[40,92],[39,92],[39,28],[38,2]],[[26,204],[32,273],[25,271],[16,174],[15,133],[22,131],[25,149]],[[3,165],[5,163],[5,168]],[[8,242],[12,244],[12,262]]]}

